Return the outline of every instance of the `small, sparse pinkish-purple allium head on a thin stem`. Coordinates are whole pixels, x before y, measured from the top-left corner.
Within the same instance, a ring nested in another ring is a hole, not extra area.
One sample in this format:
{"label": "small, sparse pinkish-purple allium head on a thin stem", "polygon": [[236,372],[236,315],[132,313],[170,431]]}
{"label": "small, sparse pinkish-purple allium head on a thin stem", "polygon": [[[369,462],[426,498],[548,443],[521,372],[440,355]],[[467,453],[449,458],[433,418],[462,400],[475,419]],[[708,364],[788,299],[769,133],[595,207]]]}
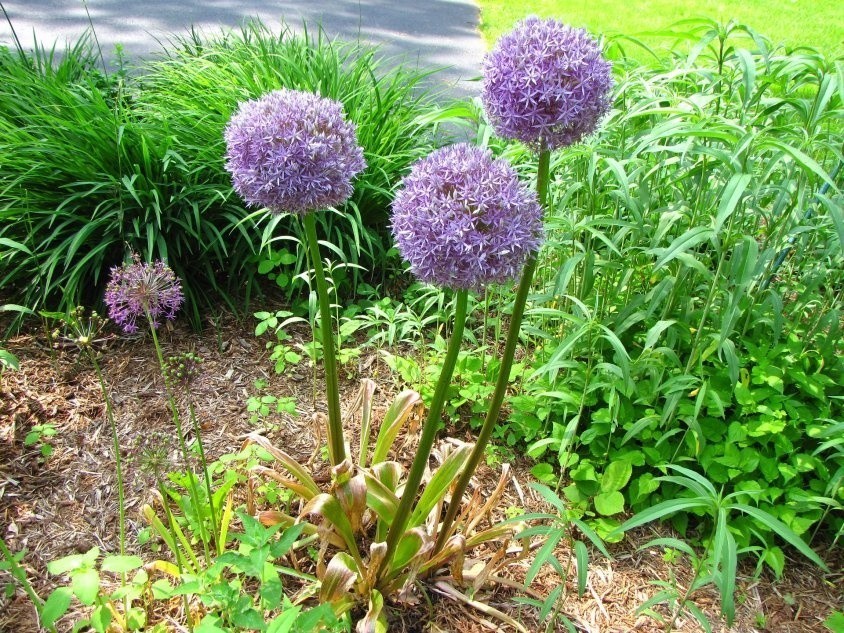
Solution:
{"label": "small, sparse pinkish-purple allium head on a thin stem", "polygon": [[161,317],[173,319],[184,301],[182,284],[164,262],[146,264],[138,255],[132,263],[111,269],[105,303],[109,317],[127,334],[137,332],[137,320],[149,314],[155,327]]}

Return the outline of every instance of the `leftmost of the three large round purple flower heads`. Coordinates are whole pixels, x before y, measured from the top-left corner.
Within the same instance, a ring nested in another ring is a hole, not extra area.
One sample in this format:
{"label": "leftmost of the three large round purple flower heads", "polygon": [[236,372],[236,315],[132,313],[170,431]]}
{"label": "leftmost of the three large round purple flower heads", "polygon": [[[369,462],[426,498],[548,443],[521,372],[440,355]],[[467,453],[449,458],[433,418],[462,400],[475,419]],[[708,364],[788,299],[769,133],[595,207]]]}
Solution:
{"label": "leftmost of the three large round purple flower heads", "polygon": [[366,167],[343,106],[309,92],[276,90],[241,103],[225,139],[235,191],[275,213],[342,204]]}

